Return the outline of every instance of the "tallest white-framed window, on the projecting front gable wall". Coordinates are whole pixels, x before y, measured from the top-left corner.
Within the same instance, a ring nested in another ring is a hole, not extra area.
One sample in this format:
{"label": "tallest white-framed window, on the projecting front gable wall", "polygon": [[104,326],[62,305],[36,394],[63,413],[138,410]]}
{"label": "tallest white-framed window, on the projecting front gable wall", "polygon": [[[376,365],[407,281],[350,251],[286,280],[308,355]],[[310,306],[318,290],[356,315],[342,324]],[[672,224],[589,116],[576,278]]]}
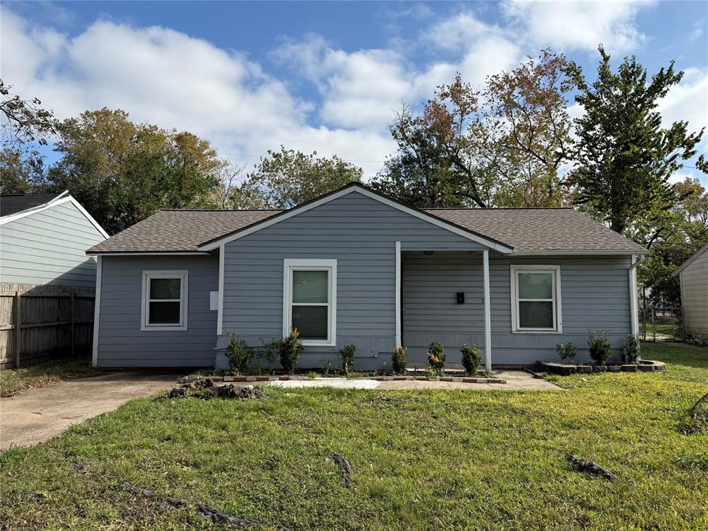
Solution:
{"label": "tallest white-framed window, on the projecting front gable wall", "polygon": [[282,335],[304,345],[336,345],[336,260],[285,260]]}

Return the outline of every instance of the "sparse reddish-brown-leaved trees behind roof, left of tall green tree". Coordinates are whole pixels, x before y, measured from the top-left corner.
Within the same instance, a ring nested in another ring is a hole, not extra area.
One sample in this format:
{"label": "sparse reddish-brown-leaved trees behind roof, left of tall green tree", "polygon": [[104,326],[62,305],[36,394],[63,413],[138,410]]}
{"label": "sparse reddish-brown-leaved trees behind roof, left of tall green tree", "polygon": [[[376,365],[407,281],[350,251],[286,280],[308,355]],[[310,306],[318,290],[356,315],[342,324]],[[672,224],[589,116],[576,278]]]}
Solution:
{"label": "sparse reddish-brown-leaved trees behind roof, left of tall green tree", "polygon": [[419,116],[404,107],[390,130],[399,152],[374,180],[418,206],[557,206],[569,156],[568,60],[550,50],[474,91],[457,74]]}

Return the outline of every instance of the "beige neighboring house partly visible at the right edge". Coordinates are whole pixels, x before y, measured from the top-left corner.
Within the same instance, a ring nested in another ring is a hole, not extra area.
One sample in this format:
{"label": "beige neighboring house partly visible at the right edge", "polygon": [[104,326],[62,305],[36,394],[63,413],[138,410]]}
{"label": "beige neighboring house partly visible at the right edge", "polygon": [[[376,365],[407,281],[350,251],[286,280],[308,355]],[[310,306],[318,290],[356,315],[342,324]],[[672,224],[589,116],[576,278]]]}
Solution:
{"label": "beige neighboring house partly visible at the right edge", "polygon": [[683,326],[694,343],[708,344],[708,244],[673,272],[681,282]]}

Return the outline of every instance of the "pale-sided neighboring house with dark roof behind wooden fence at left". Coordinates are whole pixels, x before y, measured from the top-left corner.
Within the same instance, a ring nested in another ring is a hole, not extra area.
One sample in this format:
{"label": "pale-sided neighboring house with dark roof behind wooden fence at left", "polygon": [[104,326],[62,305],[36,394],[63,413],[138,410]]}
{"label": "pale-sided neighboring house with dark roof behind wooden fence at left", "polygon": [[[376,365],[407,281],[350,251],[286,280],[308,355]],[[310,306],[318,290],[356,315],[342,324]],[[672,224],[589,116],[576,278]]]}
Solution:
{"label": "pale-sided neighboring house with dark roof behind wooden fence at left", "polygon": [[93,287],[86,249],[107,238],[69,192],[0,195],[0,282]]}

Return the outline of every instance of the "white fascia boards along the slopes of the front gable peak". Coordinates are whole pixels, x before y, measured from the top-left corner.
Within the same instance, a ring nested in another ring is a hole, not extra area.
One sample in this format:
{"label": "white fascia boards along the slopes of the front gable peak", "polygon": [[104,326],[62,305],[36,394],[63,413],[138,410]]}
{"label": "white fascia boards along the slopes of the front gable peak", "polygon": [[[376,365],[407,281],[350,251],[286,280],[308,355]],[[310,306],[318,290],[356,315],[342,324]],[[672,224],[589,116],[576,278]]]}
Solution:
{"label": "white fascia boards along the slopes of the front gable peak", "polygon": [[209,244],[205,244],[203,246],[200,246],[199,250],[200,251],[213,251],[214,249],[218,249],[219,246],[222,244],[228,244],[230,241],[237,240],[239,238],[243,238],[244,236],[248,236],[249,234],[253,234],[253,232],[257,232],[261,229],[265,229],[266,227],[270,227],[276,223],[280,223],[282,221],[285,221],[285,219],[290,219],[293,216],[297,216],[298,214],[302,212],[307,212],[308,210],[312,210],[313,208],[319,207],[320,205],[324,205],[330,201],[336,200],[338,198],[343,197],[344,195],[350,194],[350,193],[360,193],[361,195],[365,195],[367,198],[371,198],[374,200],[377,200],[378,202],[382,202],[384,205],[388,205],[389,207],[393,207],[396,210],[401,210],[402,212],[406,212],[406,214],[409,214],[413,217],[417,217],[418,219],[423,219],[426,222],[432,223],[433,225],[436,225],[438,227],[441,227],[442,229],[445,229],[447,231],[453,232],[459,236],[462,236],[463,238],[476,241],[478,244],[482,244],[492,251],[497,251],[499,253],[511,253],[513,251],[513,247],[500,244],[496,241],[492,241],[490,239],[485,238],[484,236],[478,236],[476,234],[472,234],[471,232],[468,232],[464,229],[461,229],[459,227],[456,227],[455,225],[452,225],[448,222],[445,222],[442,219],[438,219],[437,217],[433,217],[431,215],[426,214],[425,212],[420,212],[416,209],[413,209],[411,207],[406,207],[405,205],[400,205],[399,203],[392,201],[390,199],[384,198],[381,195],[377,193],[373,193],[370,190],[367,190],[366,188],[343,188],[342,190],[339,190],[338,192],[332,193],[331,195],[327,195],[324,198],[320,198],[319,200],[314,200],[313,202],[310,202],[307,205],[304,205],[303,207],[294,207],[292,210],[287,210],[285,213],[280,214],[280,215],[275,215],[272,218],[265,219],[262,222],[259,222],[258,224],[254,225],[253,227],[249,229],[244,229],[242,231],[236,232],[236,234],[232,234],[231,236],[224,236],[221,239],[212,241]]}

